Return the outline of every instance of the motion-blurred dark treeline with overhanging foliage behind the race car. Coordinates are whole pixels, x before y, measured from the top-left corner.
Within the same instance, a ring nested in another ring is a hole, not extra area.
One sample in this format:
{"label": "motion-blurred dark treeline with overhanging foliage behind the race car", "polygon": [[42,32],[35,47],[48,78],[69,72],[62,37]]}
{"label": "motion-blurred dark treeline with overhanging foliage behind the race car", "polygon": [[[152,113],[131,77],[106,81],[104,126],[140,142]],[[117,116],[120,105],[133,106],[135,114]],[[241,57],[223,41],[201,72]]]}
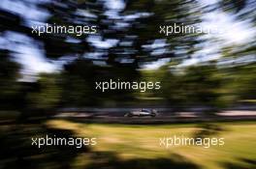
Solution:
{"label": "motion-blurred dark treeline with overhanging foliage behind the race car", "polygon": [[[214,9],[236,14],[246,8],[246,1],[223,1],[202,7],[197,1],[125,1],[123,7],[110,7],[106,1],[31,1],[18,3],[48,14],[45,19],[31,19],[26,14],[0,9],[0,35],[7,32],[33,40],[49,61],[67,60],[53,73],[40,73],[36,80],[20,81],[22,67],[14,59],[17,42],[1,47],[1,109],[21,112],[47,112],[59,107],[167,105],[173,107],[207,106],[217,110],[226,106],[255,103],[255,63],[220,66],[221,61],[205,62],[180,68],[206,40],[203,34],[159,34],[160,25],[184,23],[196,25],[202,15]],[[248,5],[248,4],[247,4]],[[253,6],[251,6],[250,10]],[[237,16],[255,17],[242,13]],[[31,23],[57,25],[95,25],[95,35],[32,34]],[[72,40],[72,41],[70,41]],[[94,42],[112,41],[110,47]],[[24,42],[25,43],[25,42]],[[29,45],[29,44],[28,44]],[[34,46],[31,46],[34,47]],[[235,60],[255,55],[255,41],[246,46],[223,47],[223,57]],[[35,56],[37,57],[37,56]],[[66,58],[66,59],[65,59]],[[145,64],[171,59],[158,70],[141,70]],[[100,63],[100,64],[99,64]],[[156,91],[95,90],[96,81],[160,81]]]}

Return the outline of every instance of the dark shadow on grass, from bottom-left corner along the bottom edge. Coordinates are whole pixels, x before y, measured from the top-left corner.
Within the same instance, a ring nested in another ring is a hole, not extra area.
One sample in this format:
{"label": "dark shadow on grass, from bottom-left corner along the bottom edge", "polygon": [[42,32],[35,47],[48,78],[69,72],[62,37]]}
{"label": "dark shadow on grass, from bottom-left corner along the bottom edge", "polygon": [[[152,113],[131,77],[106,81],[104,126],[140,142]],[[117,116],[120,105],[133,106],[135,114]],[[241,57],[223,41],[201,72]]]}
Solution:
{"label": "dark shadow on grass, from bottom-left corner along the bottom edge", "polygon": [[[88,147],[32,146],[31,137],[44,135],[75,137],[71,130],[48,128],[40,124],[9,124],[0,127],[0,169],[71,169],[77,157],[87,155],[90,162],[83,169],[198,169],[181,155],[166,158],[123,160],[109,152],[92,152]],[[87,158],[82,160],[87,161]]]}

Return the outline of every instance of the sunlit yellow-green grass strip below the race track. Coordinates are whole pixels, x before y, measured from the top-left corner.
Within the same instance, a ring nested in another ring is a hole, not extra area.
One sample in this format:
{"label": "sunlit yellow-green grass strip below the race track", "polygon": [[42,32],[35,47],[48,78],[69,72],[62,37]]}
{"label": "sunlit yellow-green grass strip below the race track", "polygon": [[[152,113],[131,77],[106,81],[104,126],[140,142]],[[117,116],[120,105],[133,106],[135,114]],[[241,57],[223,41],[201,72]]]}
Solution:
{"label": "sunlit yellow-green grass strip below the race track", "polygon": [[[118,155],[123,160],[138,158],[157,159],[172,158],[181,155],[186,160],[206,169],[254,168],[256,161],[256,124],[217,123],[220,130],[208,137],[224,137],[224,146],[211,146],[206,149],[200,146],[179,146],[168,149],[159,146],[159,138],[174,135],[193,137],[202,130],[198,124],[162,125],[162,126],[129,126],[76,124],[73,122],[49,121],[49,127],[65,128],[75,131],[78,136],[97,137],[98,145],[92,151],[108,152]],[[82,163],[84,158],[78,158]],[[248,163],[246,161],[251,161]]]}

